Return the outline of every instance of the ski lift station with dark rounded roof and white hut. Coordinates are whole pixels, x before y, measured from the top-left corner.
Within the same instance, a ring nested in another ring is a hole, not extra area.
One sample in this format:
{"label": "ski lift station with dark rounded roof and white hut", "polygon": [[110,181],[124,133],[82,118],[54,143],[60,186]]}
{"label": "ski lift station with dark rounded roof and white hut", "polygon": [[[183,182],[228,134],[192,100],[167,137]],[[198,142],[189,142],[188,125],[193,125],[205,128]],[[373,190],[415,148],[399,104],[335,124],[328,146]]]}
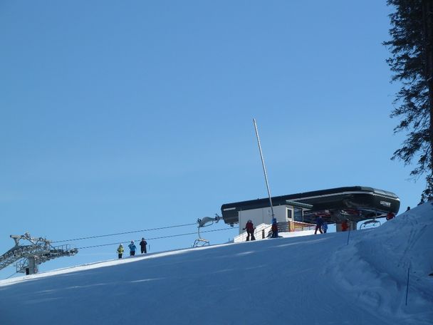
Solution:
{"label": "ski lift station with dark rounded roof and white hut", "polygon": [[[318,215],[328,223],[337,224],[349,220],[356,224],[389,212],[397,214],[400,199],[393,192],[372,187],[338,187],[328,190],[302,192],[291,195],[271,197],[273,213],[278,223],[289,226],[303,223],[314,224]],[[272,212],[268,198],[242,202],[226,203],[221,206],[224,222],[229,225],[239,223],[239,233],[248,220],[254,225],[272,223]]]}

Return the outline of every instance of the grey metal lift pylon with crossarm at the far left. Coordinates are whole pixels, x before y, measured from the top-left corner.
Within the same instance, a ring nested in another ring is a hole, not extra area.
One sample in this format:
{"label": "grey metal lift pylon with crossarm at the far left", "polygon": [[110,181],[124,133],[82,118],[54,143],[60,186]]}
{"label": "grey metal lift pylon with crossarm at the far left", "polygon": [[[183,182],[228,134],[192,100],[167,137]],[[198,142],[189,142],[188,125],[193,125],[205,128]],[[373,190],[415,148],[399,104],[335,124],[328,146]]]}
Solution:
{"label": "grey metal lift pylon with crossarm at the far left", "polygon": [[[11,234],[11,238],[14,239],[15,246],[0,255],[0,269],[16,262],[17,273],[34,274],[38,272],[38,264],[78,253],[78,249],[71,248],[69,244],[54,247],[51,240],[31,237],[28,232],[24,235]],[[20,240],[25,240],[29,244],[20,244]]]}

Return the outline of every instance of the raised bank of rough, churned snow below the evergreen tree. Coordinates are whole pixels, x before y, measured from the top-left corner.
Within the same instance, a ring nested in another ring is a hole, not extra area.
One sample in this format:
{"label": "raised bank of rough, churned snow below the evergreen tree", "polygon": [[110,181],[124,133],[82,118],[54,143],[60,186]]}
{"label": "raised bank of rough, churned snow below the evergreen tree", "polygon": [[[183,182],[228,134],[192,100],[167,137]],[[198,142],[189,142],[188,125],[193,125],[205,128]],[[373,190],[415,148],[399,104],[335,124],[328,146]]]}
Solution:
{"label": "raised bank of rough, churned snow below the evergreen tree", "polygon": [[398,315],[403,324],[432,324],[432,204],[363,232],[334,252],[327,264],[327,272],[340,279],[340,290],[387,317]]}

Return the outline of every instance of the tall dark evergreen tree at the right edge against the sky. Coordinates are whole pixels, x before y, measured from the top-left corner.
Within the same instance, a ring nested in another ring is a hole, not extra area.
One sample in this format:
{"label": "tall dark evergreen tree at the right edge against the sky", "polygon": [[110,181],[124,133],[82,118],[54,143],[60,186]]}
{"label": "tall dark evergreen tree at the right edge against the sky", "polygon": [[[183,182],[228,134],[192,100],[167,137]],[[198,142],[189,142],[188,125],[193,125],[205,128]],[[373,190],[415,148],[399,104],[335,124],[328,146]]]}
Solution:
{"label": "tall dark evergreen tree at the right edge against the sky", "polygon": [[409,165],[417,160],[413,177],[426,175],[427,184],[421,200],[433,198],[433,0],[387,0],[395,6],[390,14],[392,28],[391,57],[387,59],[394,73],[392,81],[402,87],[396,94],[391,117],[400,118],[394,132],[407,131],[397,158]]}

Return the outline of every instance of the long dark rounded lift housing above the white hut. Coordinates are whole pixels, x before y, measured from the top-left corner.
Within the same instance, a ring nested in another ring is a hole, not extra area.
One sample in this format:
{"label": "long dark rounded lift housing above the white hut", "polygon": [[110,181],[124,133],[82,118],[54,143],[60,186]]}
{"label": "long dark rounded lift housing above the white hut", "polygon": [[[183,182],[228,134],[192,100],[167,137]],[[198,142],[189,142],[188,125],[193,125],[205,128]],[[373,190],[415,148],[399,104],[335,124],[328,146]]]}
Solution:
{"label": "long dark rounded lift housing above the white hut", "polygon": [[[345,219],[359,222],[388,212],[397,215],[400,209],[400,199],[394,193],[364,186],[282,195],[272,197],[272,204],[286,205],[286,200],[313,205],[313,209],[305,213],[303,220],[299,220],[311,223],[315,222],[318,215],[322,215],[327,222],[339,222]],[[239,211],[263,207],[269,207],[268,198],[226,203],[221,205],[221,213],[224,222],[233,225],[239,222]]]}

